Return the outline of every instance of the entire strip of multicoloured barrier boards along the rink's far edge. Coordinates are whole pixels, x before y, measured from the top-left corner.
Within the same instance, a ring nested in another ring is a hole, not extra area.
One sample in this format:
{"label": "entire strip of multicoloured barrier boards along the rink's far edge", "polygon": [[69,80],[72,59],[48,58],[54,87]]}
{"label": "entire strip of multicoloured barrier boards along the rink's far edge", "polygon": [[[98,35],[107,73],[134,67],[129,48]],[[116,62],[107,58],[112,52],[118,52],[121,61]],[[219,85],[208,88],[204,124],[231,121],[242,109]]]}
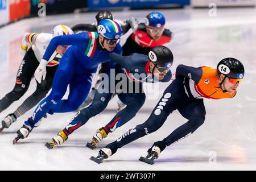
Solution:
{"label": "entire strip of multicoloured barrier boards along the rink's far edge", "polygon": [[16,20],[45,15],[79,13],[97,10],[161,9],[168,7],[245,7],[255,6],[256,0],[0,0],[0,26]]}

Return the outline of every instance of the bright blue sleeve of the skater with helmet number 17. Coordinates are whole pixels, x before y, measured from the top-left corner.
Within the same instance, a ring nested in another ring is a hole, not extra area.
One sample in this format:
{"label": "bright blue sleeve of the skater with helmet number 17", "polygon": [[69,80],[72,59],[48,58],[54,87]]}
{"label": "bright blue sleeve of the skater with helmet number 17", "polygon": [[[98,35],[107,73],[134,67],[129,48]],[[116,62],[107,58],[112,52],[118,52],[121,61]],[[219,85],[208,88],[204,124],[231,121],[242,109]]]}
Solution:
{"label": "bright blue sleeve of the skater with helmet number 17", "polygon": [[86,40],[89,40],[88,33],[82,32],[76,35],[61,35],[52,38],[49,43],[46,52],[44,53],[43,59],[49,60],[52,56],[53,52],[56,50],[58,46],[82,46],[82,44],[86,43]]}

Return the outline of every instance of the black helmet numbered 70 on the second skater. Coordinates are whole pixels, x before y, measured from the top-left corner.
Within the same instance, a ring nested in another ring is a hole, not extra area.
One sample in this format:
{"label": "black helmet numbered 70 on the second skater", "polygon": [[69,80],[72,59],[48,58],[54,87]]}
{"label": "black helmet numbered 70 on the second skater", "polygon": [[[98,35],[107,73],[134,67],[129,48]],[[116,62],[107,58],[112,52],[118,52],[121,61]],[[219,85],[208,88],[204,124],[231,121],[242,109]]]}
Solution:
{"label": "black helmet numbered 70 on the second skater", "polygon": [[[172,63],[174,63],[174,55],[172,55],[171,50],[165,46],[155,46],[151,48],[150,52],[148,52],[148,58],[152,63],[158,66],[159,72],[169,71]],[[155,67],[152,69],[152,73]]]}

